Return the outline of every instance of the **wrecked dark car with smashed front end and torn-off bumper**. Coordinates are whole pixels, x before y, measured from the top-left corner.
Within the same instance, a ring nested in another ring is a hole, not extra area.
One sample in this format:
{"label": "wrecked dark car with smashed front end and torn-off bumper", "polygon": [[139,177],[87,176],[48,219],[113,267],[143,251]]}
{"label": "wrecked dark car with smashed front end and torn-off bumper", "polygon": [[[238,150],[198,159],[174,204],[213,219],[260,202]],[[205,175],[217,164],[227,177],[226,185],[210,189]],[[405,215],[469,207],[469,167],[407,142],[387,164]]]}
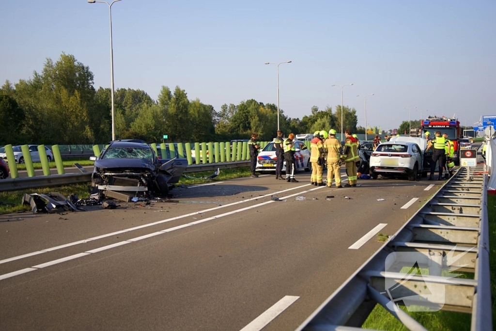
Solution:
{"label": "wrecked dark car with smashed front end and torn-off bumper", "polygon": [[186,170],[186,159],[158,159],[147,144],[113,141],[95,161],[92,194],[99,199],[130,201],[133,197],[166,196]]}

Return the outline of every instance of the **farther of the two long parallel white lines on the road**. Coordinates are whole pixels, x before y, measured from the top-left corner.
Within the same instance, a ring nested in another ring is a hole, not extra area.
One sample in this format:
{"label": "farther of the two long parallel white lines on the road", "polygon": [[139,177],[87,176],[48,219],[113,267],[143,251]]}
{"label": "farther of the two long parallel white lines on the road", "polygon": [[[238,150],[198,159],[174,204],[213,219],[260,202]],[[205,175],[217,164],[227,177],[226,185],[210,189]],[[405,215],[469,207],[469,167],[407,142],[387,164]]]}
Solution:
{"label": "farther of the two long parallel white lines on the road", "polygon": [[[76,241],[76,242],[73,242],[73,243],[68,243],[68,244],[61,245],[61,246],[47,248],[47,249],[44,249],[44,250],[41,250],[41,251],[42,252],[50,252],[50,251],[58,250],[58,249],[61,249],[61,248],[64,248],[64,247],[69,247],[69,246],[73,246],[73,245],[77,245],[77,244],[81,244],[81,243],[86,243],[86,242],[92,241],[92,240],[107,238],[107,237],[110,237],[110,236],[114,236],[116,234],[121,234],[121,233],[129,232],[129,231],[132,231],[132,230],[142,229],[142,228],[145,228],[145,227],[148,227],[148,226],[162,224],[162,223],[166,223],[166,222],[170,222],[170,221],[175,221],[177,219],[185,218],[185,217],[188,217],[188,216],[193,216],[193,215],[197,215],[197,214],[201,214],[201,213],[205,213],[205,212],[209,212],[209,211],[213,211],[213,210],[217,210],[217,209],[221,209],[221,208],[233,206],[233,205],[236,205],[236,204],[248,202],[248,201],[251,201],[251,200],[262,199],[262,198],[270,197],[272,195],[277,195],[277,194],[280,194],[280,193],[284,193],[284,192],[288,192],[288,191],[292,191],[292,190],[301,189],[301,188],[306,187],[306,186],[309,186],[309,185],[310,184],[305,184],[305,185],[302,185],[302,186],[297,186],[297,187],[294,187],[294,188],[290,188],[290,189],[286,189],[286,190],[282,190],[282,191],[278,191],[278,192],[274,192],[274,193],[269,193],[269,194],[266,194],[264,196],[253,197],[253,198],[250,198],[250,199],[245,199],[245,200],[241,200],[241,201],[236,201],[236,202],[224,204],[222,206],[217,206],[217,207],[213,207],[213,208],[209,208],[209,209],[203,209],[203,210],[200,210],[200,211],[195,211],[195,212],[192,212],[192,213],[189,213],[189,214],[185,214],[185,215],[181,215],[181,216],[176,216],[176,217],[172,217],[172,218],[167,218],[167,219],[164,219],[164,220],[161,220],[161,221],[157,221],[157,222],[153,222],[153,223],[143,224],[143,225],[135,226],[135,227],[132,227],[132,228],[124,229],[124,230],[121,230],[121,231],[107,233],[107,234],[104,234],[104,235],[101,235],[101,236],[92,237],[92,238],[88,238],[88,239],[84,239],[84,240],[79,240],[79,241]],[[36,252],[34,252],[34,253],[36,253]],[[19,255],[19,256],[16,256],[16,257],[8,258],[8,259],[5,259],[5,260],[1,260],[0,261],[0,264],[6,263],[6,262],[10,262],[10,261],[20,260],[20,259],[26,258],[28,256],[35,255],[34,253],[28,253],[28,254]],[[38,253],[38,254],[40,254],[40,253]]]}

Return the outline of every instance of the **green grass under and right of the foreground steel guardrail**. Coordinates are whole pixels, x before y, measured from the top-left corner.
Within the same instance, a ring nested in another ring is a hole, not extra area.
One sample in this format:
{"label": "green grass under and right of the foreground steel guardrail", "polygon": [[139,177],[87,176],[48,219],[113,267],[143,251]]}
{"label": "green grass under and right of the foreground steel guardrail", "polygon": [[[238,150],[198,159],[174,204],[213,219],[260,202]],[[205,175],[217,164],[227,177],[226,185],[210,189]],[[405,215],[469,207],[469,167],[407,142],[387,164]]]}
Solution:
{"label": "green grass under and right of the foreground steel guardrail", "polygon": [[[496,321],[496,196],[488,196],[488,218],[489,218],[489,268],[491,273],[492,315],[493,323]],[[462,273],[461,278],[473,278],[472,273]],[[406,308],[400,306],[405,312]],[[428,330],[439,331],[464,331],[470,330],[471,315],[447,311],[438,312],[407,312],[408,315],[417,320]],[[381,305],[376,305],[363,324],[364,329],[375,329],[385,331],[408,331],[398,320],[396,320]]]}

